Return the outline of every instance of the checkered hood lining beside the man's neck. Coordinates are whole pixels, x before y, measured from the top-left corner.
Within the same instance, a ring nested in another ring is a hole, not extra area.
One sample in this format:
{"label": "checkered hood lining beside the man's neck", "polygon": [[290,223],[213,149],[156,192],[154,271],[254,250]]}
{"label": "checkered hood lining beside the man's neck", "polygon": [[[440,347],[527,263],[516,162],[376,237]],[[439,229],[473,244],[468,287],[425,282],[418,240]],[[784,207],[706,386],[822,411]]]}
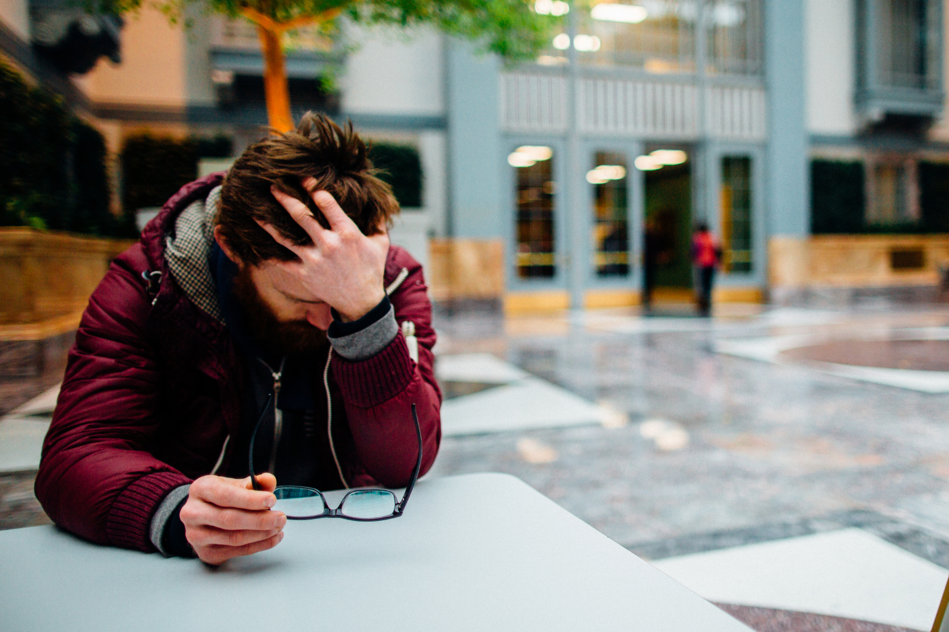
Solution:
{"label": "checkered hood lining beside the man's neck", "polygon": [[214,215],[220,199],[221,188],[215,187],[205,200],[195,200],[178,215],[174,234],[165,237],[165,262],[185,295],[223,323],[210,262]]}

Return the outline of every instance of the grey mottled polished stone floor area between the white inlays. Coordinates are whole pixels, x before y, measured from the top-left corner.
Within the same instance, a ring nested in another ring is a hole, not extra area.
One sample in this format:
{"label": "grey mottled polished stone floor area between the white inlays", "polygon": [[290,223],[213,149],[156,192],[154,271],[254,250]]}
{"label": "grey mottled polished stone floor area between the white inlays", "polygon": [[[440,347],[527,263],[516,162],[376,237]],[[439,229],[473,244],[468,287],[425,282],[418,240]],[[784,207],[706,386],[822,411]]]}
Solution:
{"label": "grey mottled polished stone floor area between the white inlays", "polygon": [[756,530],[857,512],[899,525],[894,538],[946,567],[949,394],[714,351],[736,338],[946,326],[938,307],[439,317],[439,355],[493,353],[627,423],[447,437],[435,474],[511,473],[643,553],[694,551],[715,533],[755,541]]}

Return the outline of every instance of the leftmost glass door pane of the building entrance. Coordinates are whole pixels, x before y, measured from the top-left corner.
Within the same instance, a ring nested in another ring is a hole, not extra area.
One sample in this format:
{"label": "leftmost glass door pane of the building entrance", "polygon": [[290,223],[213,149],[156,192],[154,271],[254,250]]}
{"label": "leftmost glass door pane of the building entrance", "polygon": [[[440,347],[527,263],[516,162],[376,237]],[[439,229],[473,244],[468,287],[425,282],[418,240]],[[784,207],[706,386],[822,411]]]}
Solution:
{"label": "leftmost glass door pane of the building entrance", "polygon": [[550,279],[556,272],[553,150],[524,145],[508,156],[508,164],[516,172],[517,276]]}

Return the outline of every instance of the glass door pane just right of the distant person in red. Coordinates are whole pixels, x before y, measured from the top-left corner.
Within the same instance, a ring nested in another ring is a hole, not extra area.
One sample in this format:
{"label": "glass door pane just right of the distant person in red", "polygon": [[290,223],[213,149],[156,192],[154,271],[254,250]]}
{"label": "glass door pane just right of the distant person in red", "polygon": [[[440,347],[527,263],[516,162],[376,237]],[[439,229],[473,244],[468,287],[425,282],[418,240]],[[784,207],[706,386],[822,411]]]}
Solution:
{"label": "glass door pane just right of the distant person in red", "polygon": [[752,159],[721,159],[721,244],[725,272],[752,271]]}

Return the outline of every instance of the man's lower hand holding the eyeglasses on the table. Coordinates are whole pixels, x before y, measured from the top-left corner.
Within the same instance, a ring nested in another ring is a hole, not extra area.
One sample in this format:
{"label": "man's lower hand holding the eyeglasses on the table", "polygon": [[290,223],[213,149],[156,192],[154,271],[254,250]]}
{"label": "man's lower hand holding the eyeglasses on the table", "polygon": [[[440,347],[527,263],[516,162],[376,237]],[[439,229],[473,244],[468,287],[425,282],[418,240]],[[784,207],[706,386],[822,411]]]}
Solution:
{"label": "man's lower hand holding the eyeglasses on the table", "polygon": [[202,562],[222,564],[232,557],[267,551],[284,539],[287,516],[270,511],[277,501],[272,474],[261,474],[264,488],[255,492],[251,479],[206,476],[195,480],[181,508],[185,538]]}

